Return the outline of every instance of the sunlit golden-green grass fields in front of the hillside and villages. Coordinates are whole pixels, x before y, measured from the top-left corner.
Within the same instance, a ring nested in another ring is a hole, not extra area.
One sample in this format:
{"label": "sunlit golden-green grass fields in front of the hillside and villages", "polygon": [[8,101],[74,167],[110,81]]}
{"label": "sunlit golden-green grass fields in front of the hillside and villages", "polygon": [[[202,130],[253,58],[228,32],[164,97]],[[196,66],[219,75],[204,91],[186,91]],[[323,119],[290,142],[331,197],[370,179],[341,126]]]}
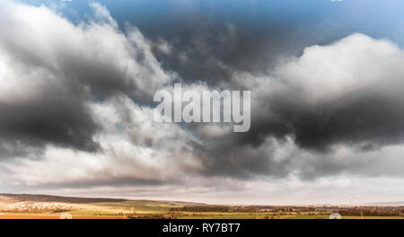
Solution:
{"label": "sunlit golden-green grass fields in front of the hillside and villages", "polygon": [[[64,212],[46,213],[0,213],[0,219],[57,219],[69,213],[74,219],[125,219],[125,218],[177,218],[177,219],[328,219],[330,211],[316,212],[238,212],[238,211],[184,211],[182,207],[201,206],[198,204],[162,201],[112,201],[93,203],[57,203],[69,206]],[[174,208],[174,209],[173,209]],[[404,216],[342,216],[343,219],[403,219]]]}

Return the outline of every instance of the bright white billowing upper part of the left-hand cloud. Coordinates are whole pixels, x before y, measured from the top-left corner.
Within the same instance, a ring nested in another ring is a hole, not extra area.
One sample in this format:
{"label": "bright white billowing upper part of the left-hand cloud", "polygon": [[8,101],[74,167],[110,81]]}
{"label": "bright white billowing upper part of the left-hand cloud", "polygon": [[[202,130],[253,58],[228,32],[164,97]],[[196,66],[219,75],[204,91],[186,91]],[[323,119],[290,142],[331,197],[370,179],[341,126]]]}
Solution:
{"label": "bright white billowing upper part of the left-hand cloud", "polygon": [[75,25],[45,6],[0,3],[1,101],[34,100],[49,83],[151,96],[171,80],[142,33],[119,31],[105,7],[92,7],[94,20]]}

